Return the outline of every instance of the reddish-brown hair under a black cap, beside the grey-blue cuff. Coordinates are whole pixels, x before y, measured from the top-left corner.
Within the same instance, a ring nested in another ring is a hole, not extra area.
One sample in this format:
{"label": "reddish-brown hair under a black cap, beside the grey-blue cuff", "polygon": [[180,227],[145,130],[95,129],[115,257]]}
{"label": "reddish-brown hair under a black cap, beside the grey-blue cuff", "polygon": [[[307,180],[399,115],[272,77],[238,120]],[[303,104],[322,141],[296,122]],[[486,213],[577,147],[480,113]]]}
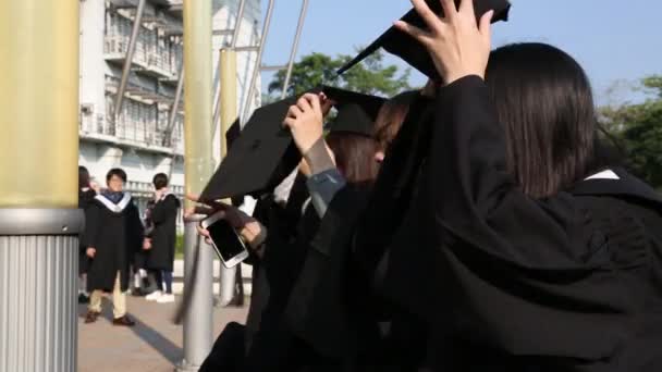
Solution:
{"label": "reddish-brown hair under a black cap, beside the grey-blue cuff", "polygon": [[333,151],[339,171],[350,184],[375,182],[379,163],[375,159],[378,145],[373,138],[348,132],[331,132],[326,140]]}

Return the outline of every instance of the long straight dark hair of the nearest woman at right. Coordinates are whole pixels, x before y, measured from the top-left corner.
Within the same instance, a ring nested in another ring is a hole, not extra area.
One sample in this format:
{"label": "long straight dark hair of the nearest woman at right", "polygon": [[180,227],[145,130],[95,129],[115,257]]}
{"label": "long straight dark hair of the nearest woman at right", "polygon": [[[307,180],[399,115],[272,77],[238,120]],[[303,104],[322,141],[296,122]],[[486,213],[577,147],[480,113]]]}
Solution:
{"label": "long straight dark hair of the nearest woman at right", "polygon": [[486,83],[505,129],[508,171],[525,194],[548,197],[586,176],[597,120],[590,83],[572,57],[544,44],[501,47]]}

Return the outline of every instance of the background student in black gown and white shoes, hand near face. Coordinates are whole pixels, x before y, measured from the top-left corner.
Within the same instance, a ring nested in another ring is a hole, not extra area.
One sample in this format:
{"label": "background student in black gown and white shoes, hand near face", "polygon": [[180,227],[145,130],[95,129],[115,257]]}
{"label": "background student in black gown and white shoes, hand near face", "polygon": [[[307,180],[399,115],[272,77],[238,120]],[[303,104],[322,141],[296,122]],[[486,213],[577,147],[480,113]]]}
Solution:
{"label": "background student in black gown and white shoes, hand near face", "polygon": [[[149,211],[150,226],[146,231],[144,248],[148,251],[146,266],[155,274],[157,290],[147,295],[147,300],[159,303],[174,302],[172,271],[176,243],[176,219],[180,199],[168,189],[168,176],[159,173],[152,179],[154,206]],[[163,288],[166,283],[166,288]]]}

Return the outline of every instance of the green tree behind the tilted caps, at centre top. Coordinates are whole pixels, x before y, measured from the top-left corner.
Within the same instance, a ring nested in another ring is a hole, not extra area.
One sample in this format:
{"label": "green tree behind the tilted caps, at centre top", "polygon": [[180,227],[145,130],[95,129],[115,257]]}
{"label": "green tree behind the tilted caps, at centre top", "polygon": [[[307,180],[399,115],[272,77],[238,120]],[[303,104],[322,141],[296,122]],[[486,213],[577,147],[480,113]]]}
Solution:
{"label": "green tree behind the tilted caps, at centre top", "polygon": [[[409,69],[401,72],[396,65],[384,65],[383,53],[378,51],[363,63],[338,76],[335,71],[352,59],[350,55],[331,58],[322,53],[312,53],[302,58],[292,69],[287,87],[289,96],[298,96],[322,84],[334,85],[358,92],[393,96],[410,89]],[[269,84],[270,95],[281,94],[286,71],[279,71]]]}

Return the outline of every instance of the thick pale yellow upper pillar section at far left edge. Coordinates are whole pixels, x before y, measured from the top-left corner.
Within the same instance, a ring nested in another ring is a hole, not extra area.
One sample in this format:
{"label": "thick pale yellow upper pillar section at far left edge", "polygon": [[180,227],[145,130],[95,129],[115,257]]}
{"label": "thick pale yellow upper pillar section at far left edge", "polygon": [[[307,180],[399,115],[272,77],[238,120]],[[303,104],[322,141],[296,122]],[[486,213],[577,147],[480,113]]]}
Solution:
{"label": "thick pale yellow upper pillar section at far left edge", "polygon": [[0,208],[76,208],[78,0],[0,1]]}

